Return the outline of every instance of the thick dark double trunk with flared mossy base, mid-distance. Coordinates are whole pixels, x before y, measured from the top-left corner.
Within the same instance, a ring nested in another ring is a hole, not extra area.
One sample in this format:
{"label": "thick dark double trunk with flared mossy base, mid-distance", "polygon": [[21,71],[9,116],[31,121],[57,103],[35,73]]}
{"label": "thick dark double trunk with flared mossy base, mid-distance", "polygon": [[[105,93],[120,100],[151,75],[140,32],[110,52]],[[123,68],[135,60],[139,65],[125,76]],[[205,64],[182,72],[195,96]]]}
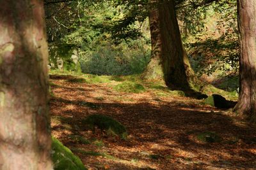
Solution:
{"label": "thick dark double trunk with flared mossy base, mid-distance", "polygon": [[143,76],[163,79],[173,89],[197,89],[197,78],[182,45],[173,1],[150,1],[151,60]]}

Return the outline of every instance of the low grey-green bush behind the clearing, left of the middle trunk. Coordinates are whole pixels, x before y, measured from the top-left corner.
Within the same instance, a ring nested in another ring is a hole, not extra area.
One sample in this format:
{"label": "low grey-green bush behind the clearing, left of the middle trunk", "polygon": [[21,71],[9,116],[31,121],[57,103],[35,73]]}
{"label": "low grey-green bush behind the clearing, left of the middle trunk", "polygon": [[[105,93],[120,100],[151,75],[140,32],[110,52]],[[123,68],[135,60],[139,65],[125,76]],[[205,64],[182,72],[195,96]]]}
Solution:
{"label": "low grey-green bush behind the clearing, left of the middle trunk", "polygon": [[81,53],[80,62],[83,73],[97,75],[130,75],[140,74],[150,60],[150,50],[142,42],[133,48],[127,43],[112,45],[105,42],[95,50]]}

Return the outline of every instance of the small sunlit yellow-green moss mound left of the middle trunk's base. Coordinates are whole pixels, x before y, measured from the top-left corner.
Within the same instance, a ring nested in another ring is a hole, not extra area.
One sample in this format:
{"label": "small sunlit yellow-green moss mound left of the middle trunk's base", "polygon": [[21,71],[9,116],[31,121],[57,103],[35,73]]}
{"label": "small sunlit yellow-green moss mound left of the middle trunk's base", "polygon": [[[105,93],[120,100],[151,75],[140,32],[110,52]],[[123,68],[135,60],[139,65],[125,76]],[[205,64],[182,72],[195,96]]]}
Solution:
{"label": "small sunlit yellow-green moss mound left of the middle trunk's base", "polygon": [[118,85],[113,87],[114,90],[118,92],[132,92],[132,93],[140,93],[145,92],[145,88],[140,83],[134,83],[131,81],[124,81]]}

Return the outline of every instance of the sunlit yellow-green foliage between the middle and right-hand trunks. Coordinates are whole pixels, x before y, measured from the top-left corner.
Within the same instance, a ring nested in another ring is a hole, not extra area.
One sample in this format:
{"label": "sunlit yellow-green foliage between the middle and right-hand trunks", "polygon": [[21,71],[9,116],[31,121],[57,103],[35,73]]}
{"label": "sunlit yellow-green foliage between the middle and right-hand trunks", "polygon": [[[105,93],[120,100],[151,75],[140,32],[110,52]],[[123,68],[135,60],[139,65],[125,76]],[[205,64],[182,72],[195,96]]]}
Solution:
{"label": "sunlit yellow-green foliage between the middle and right-hand trunks", "polygon": [[[220,0],[196,8],[193,12],[199,14],[191,15],[190,10],[184,8],[180,16],[188,13],[189,18],[186,19],[190,22],[197,20],[200,23],[200,26],[195,23],[191,25],[197,27],[198,31],[182,34],[196,74],[226,76],[236,73],[239,68],[236,0]],[[203,13],[204,17],[198,18],[202,15],[200,13]],[[185,21],[185,25],[186,23]]]}

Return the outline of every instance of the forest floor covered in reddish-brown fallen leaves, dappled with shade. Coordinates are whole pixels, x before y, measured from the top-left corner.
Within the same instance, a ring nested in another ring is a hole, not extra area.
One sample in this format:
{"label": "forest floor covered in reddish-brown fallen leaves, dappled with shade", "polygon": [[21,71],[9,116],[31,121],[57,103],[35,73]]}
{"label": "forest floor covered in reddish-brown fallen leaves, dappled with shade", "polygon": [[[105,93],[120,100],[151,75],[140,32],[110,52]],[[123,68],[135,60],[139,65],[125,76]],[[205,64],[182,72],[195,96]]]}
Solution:
{"label": "forest floor covered in reddish-brown fallen leaves, dappled with shade", "polygon": [[[88,169],[256,169],[255,127],[222,110],[164,88],[117,92],[118,78],[73,80],[51,75],[52,135]],[[127,140],[84,130],[81,120],[96,113],[125,125]],[[200,140],[205,132],[220,141]]]}

